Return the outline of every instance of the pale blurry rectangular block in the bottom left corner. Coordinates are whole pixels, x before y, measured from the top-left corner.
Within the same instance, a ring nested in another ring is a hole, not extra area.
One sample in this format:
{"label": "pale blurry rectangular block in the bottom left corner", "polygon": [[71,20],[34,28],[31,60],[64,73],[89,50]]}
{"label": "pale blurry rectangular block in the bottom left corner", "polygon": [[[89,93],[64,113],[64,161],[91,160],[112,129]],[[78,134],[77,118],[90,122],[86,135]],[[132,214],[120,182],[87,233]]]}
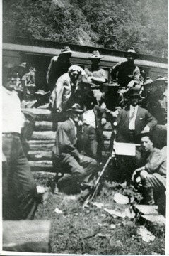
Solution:
{"label": "pale blurry rectangular block in the bottom left corner", "polygon": [[50,220],[3,221],[3,250],[49,252]]}

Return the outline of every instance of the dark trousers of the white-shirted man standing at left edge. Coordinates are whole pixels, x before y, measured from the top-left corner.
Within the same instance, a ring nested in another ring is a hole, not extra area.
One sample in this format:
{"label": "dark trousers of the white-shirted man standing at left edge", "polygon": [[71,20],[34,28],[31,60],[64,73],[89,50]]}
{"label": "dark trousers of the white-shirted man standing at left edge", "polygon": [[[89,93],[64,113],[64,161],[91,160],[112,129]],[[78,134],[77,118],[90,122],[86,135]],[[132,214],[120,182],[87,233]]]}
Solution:
{"label": "dark trousers of the white-shirted man standing at left edge", "polygon": [[3,219],[33,219],[39,203],[33,174],[19,134],[3,134]]}

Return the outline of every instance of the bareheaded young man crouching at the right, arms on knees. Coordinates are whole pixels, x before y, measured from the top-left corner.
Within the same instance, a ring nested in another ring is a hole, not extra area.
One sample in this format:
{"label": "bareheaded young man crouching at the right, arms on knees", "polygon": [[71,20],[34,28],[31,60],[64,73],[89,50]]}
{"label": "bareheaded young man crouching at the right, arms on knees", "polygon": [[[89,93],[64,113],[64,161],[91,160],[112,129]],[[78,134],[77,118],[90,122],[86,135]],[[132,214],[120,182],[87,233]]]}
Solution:
{"label": "bareheaded young man crouching at the right, arms on knees", "polygon": [[141,132],[141,159],[139,168],[132,174],[136,188],[142,186],[144,203],[153,205],[161,193],[166,190],[166,146],[163,149],[153,147],[152,135]]}

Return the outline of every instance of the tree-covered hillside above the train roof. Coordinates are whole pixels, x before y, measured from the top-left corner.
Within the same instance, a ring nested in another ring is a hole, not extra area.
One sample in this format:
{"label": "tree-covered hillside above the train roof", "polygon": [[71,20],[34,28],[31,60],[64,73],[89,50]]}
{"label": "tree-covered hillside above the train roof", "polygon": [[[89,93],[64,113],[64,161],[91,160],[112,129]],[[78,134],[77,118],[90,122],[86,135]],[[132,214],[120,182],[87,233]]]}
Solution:
{"label": "tree-covered hillside above the train roof", "polygon": [[48,39],[167,56],[168,0],[4,0],[3,29]]}

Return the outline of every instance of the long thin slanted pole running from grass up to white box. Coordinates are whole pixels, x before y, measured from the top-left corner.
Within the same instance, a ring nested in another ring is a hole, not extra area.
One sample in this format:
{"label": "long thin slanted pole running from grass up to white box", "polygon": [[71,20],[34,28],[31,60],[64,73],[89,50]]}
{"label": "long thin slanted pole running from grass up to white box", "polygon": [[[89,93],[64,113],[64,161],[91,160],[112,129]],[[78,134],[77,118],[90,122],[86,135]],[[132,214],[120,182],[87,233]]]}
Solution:
{"label": "long thin slanted pole running from grass up to white box", "polygon": [[102,171],[100,172],[100,175],[98,176],[97,180],[95,181],[95,185],[91,189],[90,194],[88,195],[88,198],[86,198],[86,201],[83,203],[83,208],[88,207],[88,203],[91,203],[93,198],[95,197],[96,193],[98,192],[98,188],[100,187],[101,182],[103,181],[103,178],[105,177],[107,166],[110,163],[112,159],[115,159],[115,151],[112,150],[111,156],[107,159],[105,166],[103,167]]}

